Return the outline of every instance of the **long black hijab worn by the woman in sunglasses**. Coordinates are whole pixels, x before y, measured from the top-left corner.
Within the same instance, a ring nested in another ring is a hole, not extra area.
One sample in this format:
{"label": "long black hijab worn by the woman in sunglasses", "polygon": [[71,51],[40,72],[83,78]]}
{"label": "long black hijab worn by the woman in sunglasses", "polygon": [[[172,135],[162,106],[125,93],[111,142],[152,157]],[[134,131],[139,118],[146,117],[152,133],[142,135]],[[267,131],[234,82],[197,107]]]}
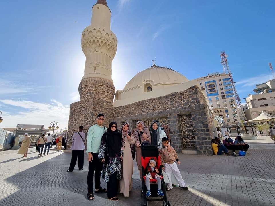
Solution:
{"label": "long black hijab worn by the woman in sunglasses", "polygon": [[106,140],[106,136],[107,136],[107,142],[108,142],[107,143],[107,146],[108,146],[107,151],[108,151],[110,157],[115,157],[116,155],[120,156],[121,147],[122,147],[122,135],[120,132],[118,132],[117,128],[115,131],[111,130],[111,126],[113,124],[115,124],[115,126],[117,126],[116,122],[111,122],[109,124],[107,132],[105,133],[105,140]]}

